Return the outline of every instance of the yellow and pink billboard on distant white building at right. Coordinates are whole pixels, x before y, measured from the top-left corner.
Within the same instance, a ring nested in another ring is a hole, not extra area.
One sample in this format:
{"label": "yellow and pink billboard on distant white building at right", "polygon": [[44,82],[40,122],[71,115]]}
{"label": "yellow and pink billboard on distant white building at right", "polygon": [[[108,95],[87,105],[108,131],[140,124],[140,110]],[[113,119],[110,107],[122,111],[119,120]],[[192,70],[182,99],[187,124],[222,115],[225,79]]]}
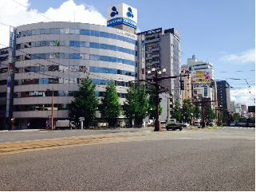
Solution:
{"label": "yellow and pink billboard on distant white building at right", "polygon": [[191,80],[193,83],[211,83],[212,69],[200,71],[191,71]]}

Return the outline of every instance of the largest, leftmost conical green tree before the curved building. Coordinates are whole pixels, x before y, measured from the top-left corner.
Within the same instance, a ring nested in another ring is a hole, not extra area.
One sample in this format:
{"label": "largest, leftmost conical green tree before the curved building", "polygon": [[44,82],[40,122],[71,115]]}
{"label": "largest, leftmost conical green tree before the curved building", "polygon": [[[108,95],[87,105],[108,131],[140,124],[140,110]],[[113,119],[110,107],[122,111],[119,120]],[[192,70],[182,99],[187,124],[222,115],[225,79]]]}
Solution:
{"label": "largest, leftmost conical green tree before the curved building", "polygon": [[81,84],[74,100],[71,101],[69,106],[69,117],[77,121],[79,117],[85,117],[85,127],[89,126],[92,120],[96,119],[96,108],[98,107],[98,100],[95,94],[95,84],[87,76]]}

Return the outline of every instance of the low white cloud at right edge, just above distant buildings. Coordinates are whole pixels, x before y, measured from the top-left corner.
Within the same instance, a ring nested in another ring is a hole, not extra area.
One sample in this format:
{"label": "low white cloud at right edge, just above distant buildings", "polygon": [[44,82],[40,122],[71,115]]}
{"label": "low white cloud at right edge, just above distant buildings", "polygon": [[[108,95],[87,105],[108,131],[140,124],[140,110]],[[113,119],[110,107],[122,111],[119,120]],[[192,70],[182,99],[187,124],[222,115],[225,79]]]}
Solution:
{"label": "low white cloud at right edge, just above distant buildings", "polygon": [[255,87],[251,88],[239,88],[230,89],[230,100],[235,103],[246,104],[247,106],[252,106],[255,99]]}

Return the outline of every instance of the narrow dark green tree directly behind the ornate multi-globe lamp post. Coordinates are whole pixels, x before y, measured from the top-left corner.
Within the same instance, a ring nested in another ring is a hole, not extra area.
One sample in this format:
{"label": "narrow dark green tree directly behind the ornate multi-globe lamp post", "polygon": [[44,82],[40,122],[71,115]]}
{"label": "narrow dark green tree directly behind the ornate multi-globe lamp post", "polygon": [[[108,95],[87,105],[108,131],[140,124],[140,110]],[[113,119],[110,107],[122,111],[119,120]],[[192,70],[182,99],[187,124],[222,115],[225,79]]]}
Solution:
{"label": "narrow dark green tree directly behind the ornate multi-globe lamp post", "polygon": [[[156,94],[154,93],[156,92],[156,87],[152,86],[152,93],[149,95],[149,99],[148,99],[148,116],[150,120],[155,119],[156,120]],[[160,116],[162,115],[163,112],[163,108],[161,107],[161,105],[159,104],[159,110],[160,110]]]}

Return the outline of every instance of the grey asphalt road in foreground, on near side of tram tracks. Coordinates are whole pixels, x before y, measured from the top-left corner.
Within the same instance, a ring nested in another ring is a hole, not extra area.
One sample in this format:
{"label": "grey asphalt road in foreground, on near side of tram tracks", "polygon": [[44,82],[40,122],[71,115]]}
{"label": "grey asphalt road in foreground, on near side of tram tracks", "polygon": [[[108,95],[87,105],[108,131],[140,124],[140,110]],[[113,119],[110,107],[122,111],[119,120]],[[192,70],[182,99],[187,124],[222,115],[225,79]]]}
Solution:
{"label": "grey asphalt road in foreground, on near side of tram tracks", "polygon": [[0,155],[0,190],[255,190],[254,129],[112,134],[130,137]]}

